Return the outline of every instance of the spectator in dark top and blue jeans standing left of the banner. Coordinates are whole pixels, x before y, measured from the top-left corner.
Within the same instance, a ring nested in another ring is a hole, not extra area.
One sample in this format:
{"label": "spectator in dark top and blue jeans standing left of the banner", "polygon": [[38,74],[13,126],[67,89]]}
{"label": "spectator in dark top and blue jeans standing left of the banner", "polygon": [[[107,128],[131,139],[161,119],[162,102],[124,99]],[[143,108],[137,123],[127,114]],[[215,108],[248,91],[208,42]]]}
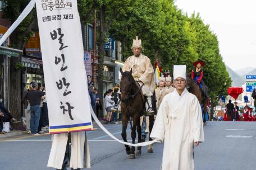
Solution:
{"label": "spectator in dark top and blue jeans standing left of the banner", "polygon": [[40,104],[42,100],[42,96],[45,95],[45,92],[39,91],[38,83],[32,82],[31,83],[31,91],[28,92],[28,100],[30,103],[30,130],[31,135],[38,135],[38,126],[39,126],[39,119],[40,119]]}

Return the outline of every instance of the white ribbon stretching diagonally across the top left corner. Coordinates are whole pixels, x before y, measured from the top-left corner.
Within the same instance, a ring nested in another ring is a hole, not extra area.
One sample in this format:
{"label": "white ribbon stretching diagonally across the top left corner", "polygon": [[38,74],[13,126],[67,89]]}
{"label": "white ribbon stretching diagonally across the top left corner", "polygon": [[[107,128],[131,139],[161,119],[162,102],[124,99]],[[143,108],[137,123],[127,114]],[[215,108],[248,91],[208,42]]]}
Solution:
{"label": "white ribbon stretching diagonally across the top left corner", "polygon": [[4,43],[4,41],[12,34],[12,32],[16,29],[17,26],[24,20],[24,18],[29,14],[29,12],[34,8],[35,0],[31,0],[26,6],[26,8],[22,11],[21,15],[17,18],[15,22],[13,22],[12,26],[7,30],[7,32],[2,36],[0,40],[0,45]]}

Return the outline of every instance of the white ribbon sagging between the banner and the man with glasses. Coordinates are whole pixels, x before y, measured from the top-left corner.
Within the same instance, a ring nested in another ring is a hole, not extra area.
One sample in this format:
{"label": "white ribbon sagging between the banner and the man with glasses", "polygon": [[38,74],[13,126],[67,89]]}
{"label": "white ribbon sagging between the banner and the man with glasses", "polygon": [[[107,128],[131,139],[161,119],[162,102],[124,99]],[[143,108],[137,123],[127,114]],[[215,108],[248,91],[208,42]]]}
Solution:
{"label": "white ribbon sagging between the banner and the man with glasses", "polygon": [[91,115],[93,116],[93,119],[95,120],[95,122],[99,125],[99,127],[112,139],[118,141],[119,143],[125,144],[125,145],[129,145],[131,147],[145,147],[147,145],[153,144],[155,142],[159,142],[156,139],[152,140],[152,141],[146,141],[143,143],[137,143],[137,144],[131,144],[122,140],[117,139],[114,135],[112,135],[111,133],[109,133],[109,131],[100,123],[100,121],[98,120],[97,116],[94,114],[93,108],[92,106],[90,106],[91,109]]}

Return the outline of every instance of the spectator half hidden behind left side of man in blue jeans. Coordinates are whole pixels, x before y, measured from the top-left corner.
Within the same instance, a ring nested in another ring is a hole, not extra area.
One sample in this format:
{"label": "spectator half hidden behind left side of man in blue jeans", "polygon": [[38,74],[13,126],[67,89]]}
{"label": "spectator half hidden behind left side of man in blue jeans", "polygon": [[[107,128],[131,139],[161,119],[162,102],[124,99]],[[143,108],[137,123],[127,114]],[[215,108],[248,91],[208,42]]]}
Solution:
{"label": "spectator half hidden behind left side of man in blue jeans", "polygon": [[[32,82],[31,82],[31,83],[32,83]],[[31,131],[30,131],[30,104],[29,104],[29,101],[28,101],[28,92],[32,89],[32,88],[31,88],[31,83],[29,84],[29,89],[27,89],[27,90],[23,93],[22,99],[21,99],[22,105],[23,105],[24,110],[25,110],[26,131],[27,131],[27,134],[31,134]]]}

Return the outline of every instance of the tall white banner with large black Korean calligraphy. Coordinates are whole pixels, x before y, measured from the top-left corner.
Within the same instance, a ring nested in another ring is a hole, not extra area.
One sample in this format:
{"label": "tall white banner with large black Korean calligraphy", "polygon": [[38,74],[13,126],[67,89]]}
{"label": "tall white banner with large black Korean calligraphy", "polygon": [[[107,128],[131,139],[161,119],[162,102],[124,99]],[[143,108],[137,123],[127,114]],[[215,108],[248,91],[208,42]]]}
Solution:
{"label": "tall white banner with large black Korean calligraphy", "polygon": [[38,0],[36,11],[47,90],[49,133],[92,130],[77,2]]}

